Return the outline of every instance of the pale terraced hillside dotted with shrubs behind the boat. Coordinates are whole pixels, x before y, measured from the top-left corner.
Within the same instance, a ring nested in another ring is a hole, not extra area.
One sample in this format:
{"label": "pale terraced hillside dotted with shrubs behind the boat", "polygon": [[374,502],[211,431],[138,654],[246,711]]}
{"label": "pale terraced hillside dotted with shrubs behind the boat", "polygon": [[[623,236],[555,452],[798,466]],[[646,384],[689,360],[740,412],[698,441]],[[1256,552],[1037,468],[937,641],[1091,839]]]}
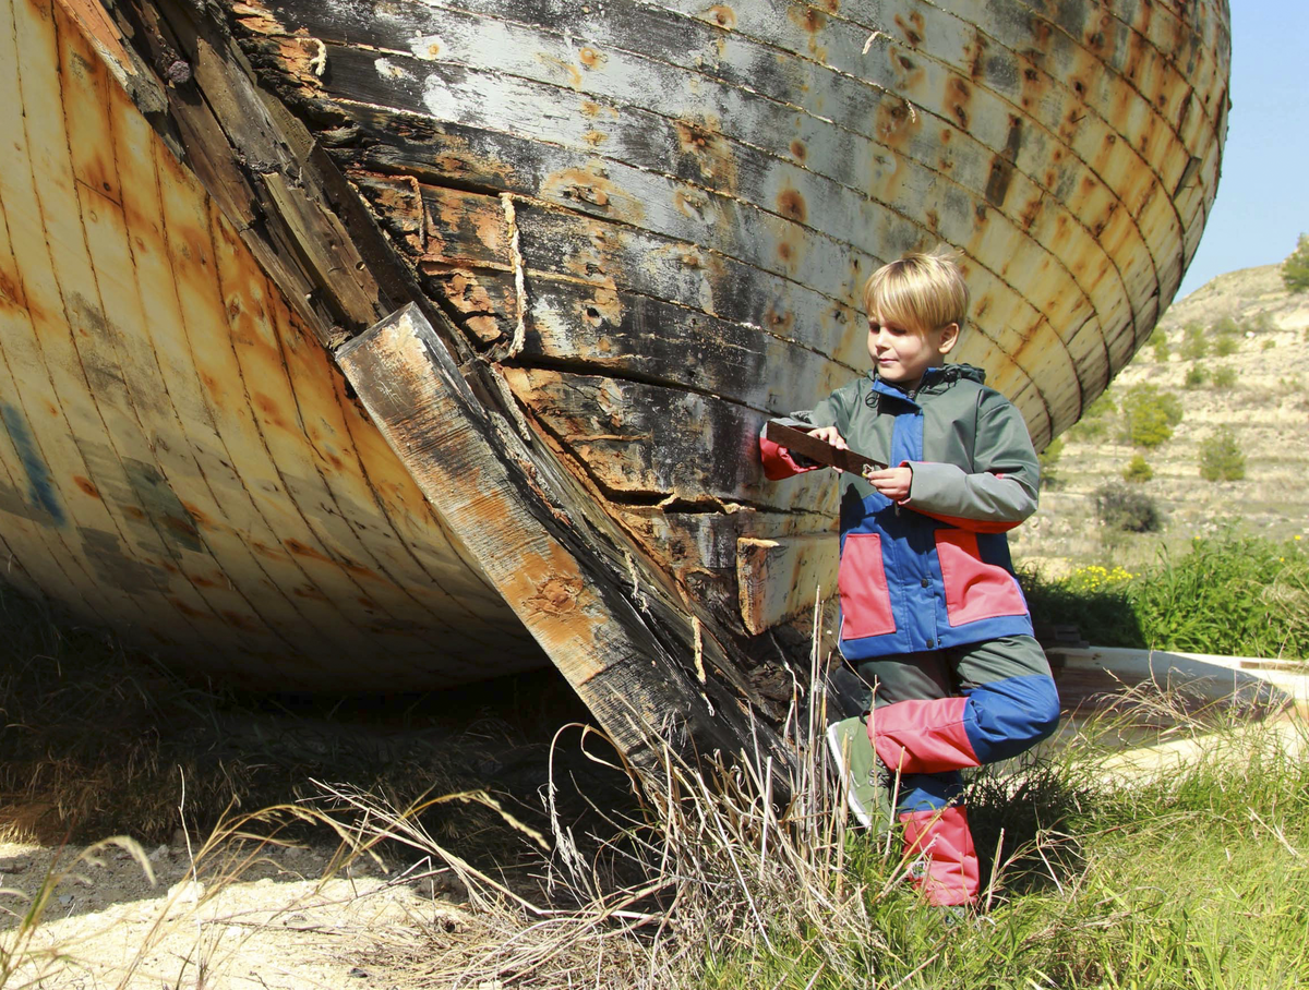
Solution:
{"label": "pale terraced hillside dotted with shrubs behind the boat", "polygon": [[[1100,415],[1062,438],[1041,510],[1011,538],[1020,564],[1050,574],[1090,561],[1131,568],[1153,560],[1161,540],[1175,547],[1228,521],[1274,539],[1309,532],[1309,293],[1289,294],[1280,265],[1229,272],[1173,303],[1156,333],[1166,353],[1152,339],[1093,407]],[[1177,396],[1181,421],[1158,446],[1132,446],[1122,403],[1149,386]],[[1207,481],[1202,450],[1223,426],[1244,451],[1245,477]],[[1136,454],[1153,476],[1126,485]],[[1102,526],[1094,493],[1106,483],[1153,500],[1162,530]]]}

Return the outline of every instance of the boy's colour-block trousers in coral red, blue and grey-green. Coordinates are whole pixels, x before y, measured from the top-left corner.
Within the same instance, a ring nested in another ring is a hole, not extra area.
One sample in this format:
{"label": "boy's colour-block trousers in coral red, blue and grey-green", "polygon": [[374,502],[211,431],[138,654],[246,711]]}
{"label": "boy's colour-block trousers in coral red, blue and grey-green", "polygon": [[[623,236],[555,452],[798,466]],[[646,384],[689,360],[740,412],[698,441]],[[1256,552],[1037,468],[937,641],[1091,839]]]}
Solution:
{"label": "boy's colour-block trousers in coral red, blue and grey-green", "polygon": [[978,858],[959,770],[1005,760],[1059,726],[1059,696],[1030,636],[861,660],[868,734],[891,774],[915,883],[932,904],[978,897]]}

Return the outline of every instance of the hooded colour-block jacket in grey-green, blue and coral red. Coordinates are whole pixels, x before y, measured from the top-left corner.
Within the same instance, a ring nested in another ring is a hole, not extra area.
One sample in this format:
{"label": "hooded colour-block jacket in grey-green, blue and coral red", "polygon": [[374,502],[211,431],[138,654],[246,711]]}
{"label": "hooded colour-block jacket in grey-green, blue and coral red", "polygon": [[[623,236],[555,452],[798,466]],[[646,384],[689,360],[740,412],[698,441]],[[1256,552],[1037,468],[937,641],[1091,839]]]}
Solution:
{"label": "hooded colour-block jacket in grey-green, blue and coral red", "polygon": [[[1004,532],[1037,509],[1039,468],[1018,411],[970,365],[932,367],[911,392],[874,375],[792,413],[852,450],[914,472],[891,502],[840,475],[840,649],[850,660],[1031,634]],[[813,462],[761,438],[772,480]]]}

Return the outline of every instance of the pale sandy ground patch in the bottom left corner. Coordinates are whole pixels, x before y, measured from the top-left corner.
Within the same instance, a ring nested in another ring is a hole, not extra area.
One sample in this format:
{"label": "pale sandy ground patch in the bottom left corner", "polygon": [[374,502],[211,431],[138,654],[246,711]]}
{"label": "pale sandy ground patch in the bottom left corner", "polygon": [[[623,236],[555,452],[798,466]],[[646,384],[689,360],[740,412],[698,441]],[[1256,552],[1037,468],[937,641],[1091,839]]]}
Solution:
{"label": "pale sandy ground patch in the bottom left corner", "polygon": [[[240,881],[224,880],[223,867],[202,868],[196,880],[182,844],[147,855],[153,884],[117,846],[88,854],[0,844],[4,944],[26,943],[18,953],[25,961],[4,985],[393,987],[401,977],[380,961],[384,944],[418,944],[419,931],[467,917],[441,892],[440,876],[433,889],[432,879],[386,876],[356,861],[323,879],[327,850],[276,850],[247,864]],[[47,876],[62,879],[45,922],[27,929],[22,912]]]}

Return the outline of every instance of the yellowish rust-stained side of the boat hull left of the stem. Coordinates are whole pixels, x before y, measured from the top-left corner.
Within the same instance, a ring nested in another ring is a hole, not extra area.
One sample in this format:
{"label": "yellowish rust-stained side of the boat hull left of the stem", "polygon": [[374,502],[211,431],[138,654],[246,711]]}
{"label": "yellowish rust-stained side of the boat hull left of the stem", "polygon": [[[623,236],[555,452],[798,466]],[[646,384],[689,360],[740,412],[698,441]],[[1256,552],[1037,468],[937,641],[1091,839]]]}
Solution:
{"label": "yellowish rust-stained side of the boat hull left of the stem", "polygon": [[22,94],[0,99],[8,579],[251,684],[539,666],[77,20],[5,5],[0,46],[0,92]]}

